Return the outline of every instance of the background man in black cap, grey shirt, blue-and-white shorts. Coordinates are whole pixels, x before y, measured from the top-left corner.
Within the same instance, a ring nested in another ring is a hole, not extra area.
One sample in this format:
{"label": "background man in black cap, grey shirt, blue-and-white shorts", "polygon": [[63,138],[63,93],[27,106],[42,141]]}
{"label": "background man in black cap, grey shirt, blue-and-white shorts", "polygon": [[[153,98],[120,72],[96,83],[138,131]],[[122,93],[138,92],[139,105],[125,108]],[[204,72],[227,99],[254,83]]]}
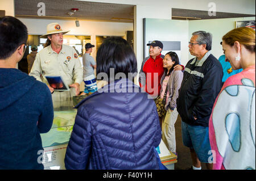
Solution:
{"label": "background man in black cap, grey shirt, blue-and-white shorts", "polygon": [[92,53],[92,48],[95,47],[90,43],[85,44],[85,54],[82,56],[82,66],[84,80],[84,92],[82,94],[87,94],[89,92],[97,91],[96,77],[94,75],[94,69],[96,69],[96,62],[90,53]]}

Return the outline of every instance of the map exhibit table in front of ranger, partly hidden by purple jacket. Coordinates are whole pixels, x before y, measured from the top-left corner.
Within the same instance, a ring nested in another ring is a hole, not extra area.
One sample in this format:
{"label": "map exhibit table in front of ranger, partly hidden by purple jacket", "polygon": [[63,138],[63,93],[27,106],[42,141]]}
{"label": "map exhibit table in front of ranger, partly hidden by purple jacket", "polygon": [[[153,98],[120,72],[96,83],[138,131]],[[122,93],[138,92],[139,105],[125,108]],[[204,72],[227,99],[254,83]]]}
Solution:
{"label": "map exhibit table in front of ranger, partly hidden by purple jacket", "polygon": [[[65,170],[64,158],[75,124],[77,109],[73,108],[73,100],[53,102],[53,107],[52,128],[49,132],[40,134],[44,148],[43,165],[45,170]],[[177,157],[167,149],[162,140],[156,150],[162,163],[168,169],[174,169]]]}

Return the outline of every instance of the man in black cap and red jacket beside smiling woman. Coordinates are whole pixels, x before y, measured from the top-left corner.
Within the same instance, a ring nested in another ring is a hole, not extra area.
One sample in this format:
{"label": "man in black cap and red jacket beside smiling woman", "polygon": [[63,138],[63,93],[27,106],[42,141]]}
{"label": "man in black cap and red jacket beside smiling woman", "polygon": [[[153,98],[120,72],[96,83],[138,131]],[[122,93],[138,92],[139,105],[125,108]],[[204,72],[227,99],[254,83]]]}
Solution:
{"label": "man in black cap and red jacket beside smiling woman", "polygon": [[[160,80],[164,73],[164,55],[161,54],[163,50],[163,43],[161,41],[154,40],[151,43],[148,43],[147,46],[150,46],[150,56],[144,58],[142,62],[141,71],[139,71],[139,86],[150,94],[152,98],[156,98],[160,95]],[[176,65],[174,67],[174,70],[183,69],[183,65]],[[154,75],[155,73],[157,73],[157,76]],[[147,80],[151,80],[151,82],[147,82]]]}

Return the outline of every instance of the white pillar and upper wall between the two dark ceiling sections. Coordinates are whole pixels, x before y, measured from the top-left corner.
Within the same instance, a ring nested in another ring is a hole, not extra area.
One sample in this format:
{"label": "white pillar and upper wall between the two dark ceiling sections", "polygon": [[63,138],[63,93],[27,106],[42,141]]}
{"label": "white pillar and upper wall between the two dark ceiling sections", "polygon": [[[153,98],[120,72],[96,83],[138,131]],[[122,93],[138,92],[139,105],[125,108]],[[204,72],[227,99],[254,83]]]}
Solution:
{"label": "white pillar and upper wall between the two dark ceiling sections", "polygon": [[[255,15],[255,0],[78,0],[89,2],[136,5],[134,7],[134,51],[138,61],[138,71],[143,60],[143,18],[171,19],[171,8],[208,11],[210,2],[216,11]],[[137,82],[138,83],[138,82]]]}

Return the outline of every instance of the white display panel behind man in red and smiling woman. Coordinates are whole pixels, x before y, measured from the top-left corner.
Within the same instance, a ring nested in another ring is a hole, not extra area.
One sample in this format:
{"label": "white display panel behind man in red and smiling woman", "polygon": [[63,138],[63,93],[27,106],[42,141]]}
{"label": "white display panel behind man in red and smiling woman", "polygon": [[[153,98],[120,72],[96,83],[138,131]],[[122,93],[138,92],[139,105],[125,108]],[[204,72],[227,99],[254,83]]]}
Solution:
{"label": "white display panel behind man in red and smiling woman", "polygon": [[143,57],[149,56],[148,43],[162,41],[162,54],[173,51],[179,56],[180,64],[188,62],[188,21],[169,19],[143,19]]}

